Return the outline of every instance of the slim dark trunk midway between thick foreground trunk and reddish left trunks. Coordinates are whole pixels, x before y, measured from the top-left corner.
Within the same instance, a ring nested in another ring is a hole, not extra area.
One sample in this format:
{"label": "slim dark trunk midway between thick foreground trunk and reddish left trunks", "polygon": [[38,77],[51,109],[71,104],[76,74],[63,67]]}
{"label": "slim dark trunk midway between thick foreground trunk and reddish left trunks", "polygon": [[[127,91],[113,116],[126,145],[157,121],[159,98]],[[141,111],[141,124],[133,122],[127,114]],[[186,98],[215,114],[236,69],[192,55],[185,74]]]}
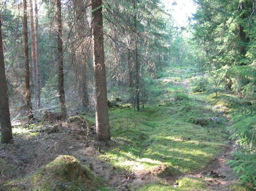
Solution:
{"label": "slim dark trunk midway between thick foreground trunk and reddish left trunks", "polygon": [[63,73],[63,47],[62,47],[62,20],[61,20],[61,2],[57,0],[57,18],[58,18],[58,57],[59,57],[59,97],[60,109],[63,116],[67,115],[65,93],[64,93],[64,73]]}

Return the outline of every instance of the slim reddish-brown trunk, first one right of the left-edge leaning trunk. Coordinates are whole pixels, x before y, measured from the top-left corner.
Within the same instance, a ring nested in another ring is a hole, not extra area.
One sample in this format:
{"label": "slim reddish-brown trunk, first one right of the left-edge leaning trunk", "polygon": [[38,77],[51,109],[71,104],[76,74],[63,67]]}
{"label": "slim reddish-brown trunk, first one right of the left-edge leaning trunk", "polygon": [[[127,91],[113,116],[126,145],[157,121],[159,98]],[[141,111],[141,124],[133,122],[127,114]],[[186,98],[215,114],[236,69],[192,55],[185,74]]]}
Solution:
{"label": "slim reddish-brown trunk, first one right of the left-edge leaning trunk", "polygon": [[29,58],[28,58],[28,17],[27,17],[27,0],[23,0],[23,34],[24,34],[24,55],[25,55],[25,83],[26,83],[26,101],[28,118],[32,119],[32,104],[30,96],[30,79],[29,79]]}

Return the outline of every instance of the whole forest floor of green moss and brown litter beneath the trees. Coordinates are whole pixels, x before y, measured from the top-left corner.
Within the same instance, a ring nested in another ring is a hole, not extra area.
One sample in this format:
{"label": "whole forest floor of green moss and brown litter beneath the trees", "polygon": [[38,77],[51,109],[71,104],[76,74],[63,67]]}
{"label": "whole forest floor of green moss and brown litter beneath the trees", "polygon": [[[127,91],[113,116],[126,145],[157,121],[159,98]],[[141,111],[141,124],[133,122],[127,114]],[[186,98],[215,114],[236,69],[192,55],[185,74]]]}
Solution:
{"label": "whole forest floor of green moss and brown litter beneath the trees", "polygon": [[140,112],[127,105],[110,108],[108,146],[94,141],[93,114],[80,114],[89,132],[84,132],[80,117],[56,120],[48,113],[36,123],[17,121],[14,143],[0,147],[0,190],[38,185],[41,190],[75,190],[70,185],[79,187],[76,179],[56,183],[58,178],[44,176],[47,169],[40,178],[37,172],[56,157],[70,155],[100,177],[94,187],[86,185],[89,190],[246,191],[226,164],[237,149],[226,129],[230,108],[224,98],[232,95],[215,99],[214,93],[194,94],[194,76],[187,69],[165,71],[156,80],[168,92],[158,95],[160,103],[145,105]]}

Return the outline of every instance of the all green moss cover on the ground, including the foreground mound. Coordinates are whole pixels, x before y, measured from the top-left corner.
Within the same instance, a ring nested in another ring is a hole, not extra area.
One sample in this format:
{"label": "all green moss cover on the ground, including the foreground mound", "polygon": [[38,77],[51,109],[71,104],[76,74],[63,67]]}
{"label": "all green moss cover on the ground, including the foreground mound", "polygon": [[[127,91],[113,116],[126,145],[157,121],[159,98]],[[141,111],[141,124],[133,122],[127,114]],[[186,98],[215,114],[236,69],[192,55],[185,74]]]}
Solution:
{"label": "all green moss cover on the ground, including the foreground mound", "polygon": [[[218,98],[214,92],[192,93],[193,77],[191,69],[166,70],[158,79],[145,80],[148,103],[140,112],[127,105],[110,109],[111,136],[115,144],[106,150],[103,148],[96,159],[120,172],[150,172],[152,178],[148,183],[130,183],[130,190],[210,190],[204,178],[186,175],[200,173],[226,150],[230,142],[226,117],[232,118],[232,113],[242,109],[239,106],[241,100],[225,92],[218,93]],[[116,93],[115,96],[125,100],[127,95]],[[110,95],[113,100],[115,96]],[[81,116],[89,125],[94,125],[93,114],[81,113]],[[194,123],[197,118],[212,117],[217,117],[218,122],[210,121],[204,126]],[[25,134],[28,140],[40,135],[20,127],[15,127],[13,132],[14,137]],[[4,160],[2,162],[4,164]],[[168,169],[159,173],[159,167]],[[72,169],[76,169],[75,172]],[[168,176],[176,183],[166,181]],[[114,185],[106,186],[108,181],[104,180],[104,175],[95,175],[70,156],[56,158],[26,177],[8,182],[6,186],[17,182],[29,182],[30,190],[116,189]],[[230,189],[235,190],[235,187],[233,185]],[[14,190],[21,188],[22,185],[12,187]]]}

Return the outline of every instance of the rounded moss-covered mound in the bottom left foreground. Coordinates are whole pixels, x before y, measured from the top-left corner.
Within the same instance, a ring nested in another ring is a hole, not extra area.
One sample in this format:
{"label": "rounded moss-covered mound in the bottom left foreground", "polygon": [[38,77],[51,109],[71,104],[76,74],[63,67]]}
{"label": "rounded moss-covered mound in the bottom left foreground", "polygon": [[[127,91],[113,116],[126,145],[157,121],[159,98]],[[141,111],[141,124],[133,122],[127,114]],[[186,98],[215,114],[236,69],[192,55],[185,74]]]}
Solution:
{"label": "rounded moss-covered mound in the bottom left foreground", "polygon": [[27,177],[9,182],[4,187],[13,191],[96,191],[104,185],[103,179],[94,176],[90,169],[80,164],[76,158],[63,155]]}

